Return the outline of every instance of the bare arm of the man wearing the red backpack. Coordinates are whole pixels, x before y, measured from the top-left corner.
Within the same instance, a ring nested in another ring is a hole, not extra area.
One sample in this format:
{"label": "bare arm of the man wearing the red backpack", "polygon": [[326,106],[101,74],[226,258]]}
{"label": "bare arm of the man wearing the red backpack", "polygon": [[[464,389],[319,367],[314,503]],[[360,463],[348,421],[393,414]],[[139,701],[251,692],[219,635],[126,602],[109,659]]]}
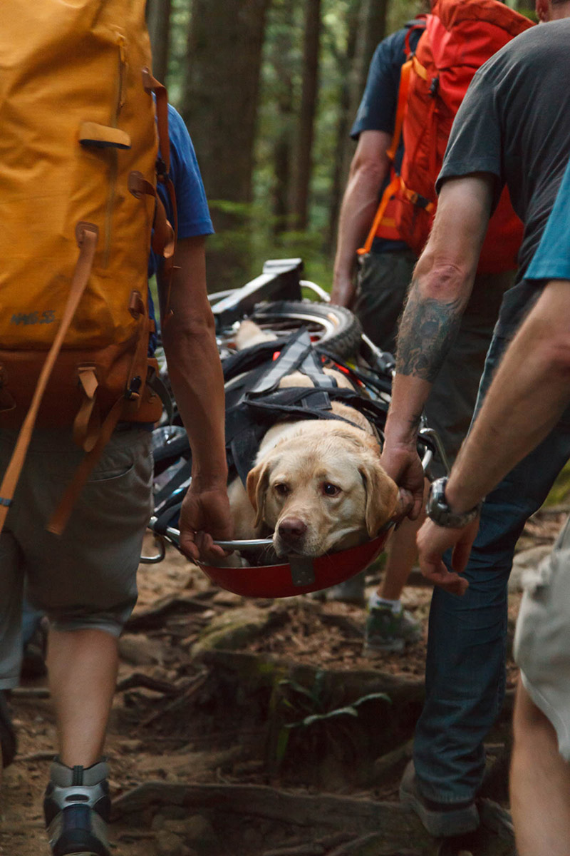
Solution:
{"label": "bare arm of the man wearing the red backpack", "polygon": [[379,205],[380,188],[390,166],[386,156],[390,143],[391,136],[385,131],[362,131],[358,138],[338,222],[331,300],[339,306],[350,306],[354,297],[356,250],[366,240]]}

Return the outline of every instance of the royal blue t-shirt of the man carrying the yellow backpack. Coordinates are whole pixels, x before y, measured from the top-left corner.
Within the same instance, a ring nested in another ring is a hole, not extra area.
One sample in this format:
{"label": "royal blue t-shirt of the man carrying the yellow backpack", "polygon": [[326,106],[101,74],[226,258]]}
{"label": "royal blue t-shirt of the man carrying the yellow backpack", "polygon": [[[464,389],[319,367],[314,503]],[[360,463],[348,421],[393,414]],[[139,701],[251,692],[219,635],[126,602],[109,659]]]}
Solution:
{"label": "royal blue t-shirt of the man carrying the yellow backpack", "polygon": [[[209,216],[208,202],[196,159],[196,152],[184,120],[168,104],[168,136],[170,138],[170,175],[174,185],[176,210],[178,214],[178,238],[192,238],[197,235],[212,235],[214,227]],[[167,217],[173,222],[173,211],[167,189],[158,184],[158,194],[162,199]],[[149,278],[159,269],[161,259],[150,251]],[[150,318],[156,319],[155,306],[149,291]],[[154,354],[156,336],[150,336],[149,355]]]}

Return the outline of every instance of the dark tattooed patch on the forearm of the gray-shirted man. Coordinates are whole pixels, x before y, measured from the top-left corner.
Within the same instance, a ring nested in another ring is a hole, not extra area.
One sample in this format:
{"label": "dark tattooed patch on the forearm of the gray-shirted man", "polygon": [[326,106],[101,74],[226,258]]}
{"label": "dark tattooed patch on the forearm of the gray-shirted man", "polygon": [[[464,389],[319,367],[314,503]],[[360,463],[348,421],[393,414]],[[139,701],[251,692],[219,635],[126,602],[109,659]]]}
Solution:
{"label": "dark tattooed patch on the forearm of the gray-shirted man", "polygon": [[409,289],[397,338],[396,371],[429,383],[438,372],[461,323],[463,300],[424,298],[417,280]]}

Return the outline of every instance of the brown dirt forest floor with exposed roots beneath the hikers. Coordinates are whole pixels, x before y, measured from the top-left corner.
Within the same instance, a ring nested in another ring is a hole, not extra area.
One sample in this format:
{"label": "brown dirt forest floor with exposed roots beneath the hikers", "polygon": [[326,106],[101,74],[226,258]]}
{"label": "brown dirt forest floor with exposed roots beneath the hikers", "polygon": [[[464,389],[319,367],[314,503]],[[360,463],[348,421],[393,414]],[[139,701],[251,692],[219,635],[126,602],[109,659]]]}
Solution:
{"label": "brown dirt forest floor with exposed roots beneath the hikers", "polygon": [[[544,555],[564,510],[529,521],[523,563]],[[379,571],[368,574],[368,591],[378,580]],[[510,645],[507,703],[487,744],[485,830],[453,849],[398,805],[423,698],[431,597],[418,574],[411,581],[403,600],[424,639],[370,659],[362,656],[361,607],[309,597],[246,603],[215,589],[174,550],[161,564],[141,565],[107,745],[111,853],[514,853],[499,807],[507,805],[516,681]],[[509,594],[511,641],[517,588]],[[3,777],[0,853],[48,856],[41,800],[56,732],[45,678],[26,679],[12,706],[19,754]]]}

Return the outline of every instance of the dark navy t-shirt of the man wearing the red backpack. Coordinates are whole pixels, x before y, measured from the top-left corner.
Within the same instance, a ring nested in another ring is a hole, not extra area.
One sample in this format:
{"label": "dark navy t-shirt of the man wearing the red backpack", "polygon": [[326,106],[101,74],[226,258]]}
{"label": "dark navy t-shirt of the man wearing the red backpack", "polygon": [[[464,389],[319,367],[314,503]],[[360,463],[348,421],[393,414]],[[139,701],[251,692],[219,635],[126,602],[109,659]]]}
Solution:
{"label": "dark navy t-shirt of the man wearing the red backpack", "polygon": [[[350,130],[350,136],[353,140],[358,140],[362,131],[394,133],[400,72],[407,58],[406,37],[410,27],[416,23],[420,24],[420,21],[409,21],[403,29],[398,30],[397,33],[392,33],[387,39],[383,39],[374,51],[368,69],[366,88],[356,114],[355,123]],[[415,51],[422,31],[423,22],[421,29],[418,27],[410,33],[408,43],[410,51]],[[394,162],[394,168],[397,172],[400,170],[402,158],[403,142],[400,140]],[[390,178],[387,176],[380,190],[380,198],[389,181]],[[377,253],[393,252],[406,249],[407,246],[404,241],[387,241],[385,238],[374,238],[373,251]]]}

